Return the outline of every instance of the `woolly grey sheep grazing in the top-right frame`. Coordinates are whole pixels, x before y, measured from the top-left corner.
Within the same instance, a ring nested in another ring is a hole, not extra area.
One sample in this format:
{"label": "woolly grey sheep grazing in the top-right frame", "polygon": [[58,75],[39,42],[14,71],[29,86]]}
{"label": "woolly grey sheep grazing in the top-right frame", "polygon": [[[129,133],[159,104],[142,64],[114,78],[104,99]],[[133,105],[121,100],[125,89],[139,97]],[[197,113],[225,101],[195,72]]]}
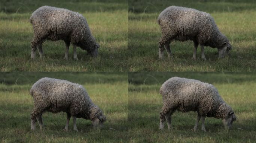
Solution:
{"label": "woolly grey sheep grazing in the top-right frame", "polygon": [[217,48],[219,57],[223,58],[232,49],[228,38],[217,27],[210,14],[187,7],[170,6],[163,10],[158,19],[162,30],[159,41],[159,59],[163,58],[164,47],[168,57],[173,56],[170,50],[171,41],[194,42],[193,59],[196,60],[196,49],[201,47],[201,58],[206,60],[204,46]]}

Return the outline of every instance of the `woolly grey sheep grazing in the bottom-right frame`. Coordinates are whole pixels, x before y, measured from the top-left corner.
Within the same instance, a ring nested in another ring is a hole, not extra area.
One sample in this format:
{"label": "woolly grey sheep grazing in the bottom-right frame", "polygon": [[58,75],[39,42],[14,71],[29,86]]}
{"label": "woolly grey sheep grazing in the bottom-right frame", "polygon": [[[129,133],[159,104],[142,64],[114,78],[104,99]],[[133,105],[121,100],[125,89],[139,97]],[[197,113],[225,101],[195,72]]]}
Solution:
{"label": "woolly grey sheep grazing in the bottom-right frame", "polygon": [[167,120],[168,129],[171,128],[171,115],[174,111],[196,111],[197,120],[193,130],[196,131],[199,120],[202,118],[201,130],[204,127],[205,117],[222,118],[225,129],[231,128],[236,116],[232,108],[220,97],[217,89],[208,83],[199,80],[172,77],[160,88],[163,107],[160,112],[159,128],[164,128]]}

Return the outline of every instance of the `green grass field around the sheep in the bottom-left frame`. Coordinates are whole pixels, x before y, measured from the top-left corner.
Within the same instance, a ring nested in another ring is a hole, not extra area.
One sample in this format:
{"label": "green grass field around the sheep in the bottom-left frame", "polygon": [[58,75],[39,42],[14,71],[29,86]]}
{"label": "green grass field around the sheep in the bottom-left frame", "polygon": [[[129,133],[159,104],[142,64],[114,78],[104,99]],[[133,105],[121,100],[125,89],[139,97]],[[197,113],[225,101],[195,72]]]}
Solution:
{"label": "green grass field around the sheep in the bottom-left frame", "polygon": [[[65,132],[66,115],[45,113],[45,129],[30,131],[33,98],[29,90],[41,77],[55,77],[82,84],[92,101],[107,117],[104,128],[96,130],[91,121],[77,119],[79,132]],[[125,142],[128,139],[128,83],[127,73],[28,73],[0,74],[0,142],[2,143],[57,143],[57,142]],[[113,128],[113,129],[110,129]]]}

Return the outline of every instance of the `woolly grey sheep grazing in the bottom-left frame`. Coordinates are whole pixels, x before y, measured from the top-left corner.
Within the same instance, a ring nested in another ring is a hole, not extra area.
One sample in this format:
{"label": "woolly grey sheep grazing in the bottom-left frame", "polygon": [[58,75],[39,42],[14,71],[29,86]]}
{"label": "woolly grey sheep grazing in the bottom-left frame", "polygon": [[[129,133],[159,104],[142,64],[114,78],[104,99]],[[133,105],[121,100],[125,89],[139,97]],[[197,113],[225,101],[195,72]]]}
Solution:
{"label": "woolly grey sheep grazing in the bottom-left frame", "polygon": [[103,111],[90,99],[82,85],[67,80],[44,77],[38,80],[30,89],[34,99],[34,108],[31,113],[31,130],[36,128],[36,119],[40,129],[44,127],[42,115],[44,112],[66,112],[67,122],[64,130],[68,130],[70,117],[73,117],[73,130],[76,127],[76,118],[91,120],[95,128],[102,128],[106,117]]}

